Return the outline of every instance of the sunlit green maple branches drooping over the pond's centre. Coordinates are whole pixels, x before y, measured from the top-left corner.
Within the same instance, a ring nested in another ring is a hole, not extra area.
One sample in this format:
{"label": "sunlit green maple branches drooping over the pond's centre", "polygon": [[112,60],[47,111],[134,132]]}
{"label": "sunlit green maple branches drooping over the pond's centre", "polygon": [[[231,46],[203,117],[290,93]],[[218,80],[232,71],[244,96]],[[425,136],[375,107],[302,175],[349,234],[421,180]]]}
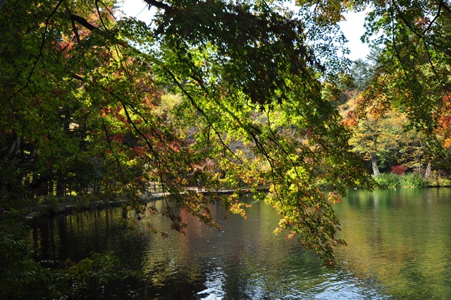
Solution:
{"label": "sunlit green maple branches drooping over the pond's centre", "polygon": [[[285,216],[281,227],[291,228],[292,236],[300,234],[309,248],[313,236],[336,224],[321,221],[319,227],[311,227],[313,231],[305,231],[309,222],[331,212],[315,187],[314,166],[322,164],[339,191],[359,177],[362,166],[350,152],[348,133],[337,123],[337,112],[321,97],[316,72],[322,68],[302,46],[302,21],[283,18],[276,6],[265,4],[186,5],[163,6],[157,17],[156,32],[166,45],[161,77],[173,80],[196,109],[196,124],[202,124],[199,116],[206,121],[199,139],[211,145],[208,155],[223,153],[218,159],[230,180],[237,183],[237,176],[252,174],[247,157],[227,149],[232,140],[244,140],[259,157],[259,165],[267,165],[257,173],[271,181],[266,200]],[[258,110],[266,114],[263,122],[251,118]],[[276,130],[284,118],[285,124],[296,127],[294,138]],[[235,208],[233,203],[230,208]],[[322,247],[329,251],[327,243]]]}

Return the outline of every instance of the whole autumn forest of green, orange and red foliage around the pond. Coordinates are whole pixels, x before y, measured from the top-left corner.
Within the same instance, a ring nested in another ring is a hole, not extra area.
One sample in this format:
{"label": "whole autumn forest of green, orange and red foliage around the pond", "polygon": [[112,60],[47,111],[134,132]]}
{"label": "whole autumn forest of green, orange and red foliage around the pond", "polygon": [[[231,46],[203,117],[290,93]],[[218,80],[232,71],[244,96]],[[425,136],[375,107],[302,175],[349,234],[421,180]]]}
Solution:
{"label": "whole autumn forest of green, orange and red foliage around the pond", "polygon": [[[149,23],[115,0],[0,1],[0,260],[35,272],[1,268],[4,294],[56,276],[13,242],[35,205],[125,200],[184,232],[180,210],[218,227],[218,200],[246,217],[247,189],[333,267],[348,188],[451,184],[449,1],[144,2]],[[350,61],[338,22],[365,9],[373,50]]]}

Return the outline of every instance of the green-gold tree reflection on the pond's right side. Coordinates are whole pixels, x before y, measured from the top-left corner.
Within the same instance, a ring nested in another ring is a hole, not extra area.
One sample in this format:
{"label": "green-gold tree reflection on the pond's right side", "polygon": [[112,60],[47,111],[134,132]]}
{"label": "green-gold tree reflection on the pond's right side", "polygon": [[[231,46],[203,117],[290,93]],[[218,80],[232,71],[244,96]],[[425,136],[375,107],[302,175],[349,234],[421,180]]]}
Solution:
{"label": "green-gold tree reflection on the pond's right side", "polygon": [[348,244],[340,258],[357,277],[380,281],[394,296],[450,296],[450,211],[440,203],[445,193],[351,193],[342,208],[335,205]]}

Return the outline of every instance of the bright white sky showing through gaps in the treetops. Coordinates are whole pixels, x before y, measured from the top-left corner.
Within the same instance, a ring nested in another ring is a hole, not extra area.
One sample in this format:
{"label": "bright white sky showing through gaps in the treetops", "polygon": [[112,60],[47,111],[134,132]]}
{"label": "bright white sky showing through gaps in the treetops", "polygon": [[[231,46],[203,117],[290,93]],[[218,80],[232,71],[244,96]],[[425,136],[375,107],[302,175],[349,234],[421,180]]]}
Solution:
{"label": "bright white sky showing through gaps in the treetops", "polygon": [[[147,8],[147,4],[142,0],[123,0],[124,4],[122,10],[128,16],[136,17],[146,23],[152,19],[154,14],[154,8],[150,11]],[[362,44],[360,37],[365,32],[364,29],[365,13],[346,13],[345,21],[340,23],[340,28],[345,34],[345,37],[349,42],[347,47],[350,49],[351,54],[347,55],[348,59],[352,61],[356,59],[365,59],[370,50],[366,44]]]}

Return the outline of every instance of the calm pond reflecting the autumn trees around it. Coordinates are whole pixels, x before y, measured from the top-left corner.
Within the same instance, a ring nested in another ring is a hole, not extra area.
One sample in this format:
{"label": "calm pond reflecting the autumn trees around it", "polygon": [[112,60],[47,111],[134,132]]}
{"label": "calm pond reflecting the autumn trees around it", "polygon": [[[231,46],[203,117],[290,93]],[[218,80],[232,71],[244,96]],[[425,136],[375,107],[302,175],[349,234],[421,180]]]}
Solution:
{"label": "calm pond reflecting the autumn trees around it", "polygon": [[216,206],[219,232],[183,215],[187,233],[163,238],[114,208],[40,220],[33,238],[38,259],[113,251],[144,274],[89,291],[89,299],[451,299],[450,188],[350,191],[333,208],[347,241],[335,270],[274,235],[279,216],[264,203],[248,210],[248,220],[224,219]]}

